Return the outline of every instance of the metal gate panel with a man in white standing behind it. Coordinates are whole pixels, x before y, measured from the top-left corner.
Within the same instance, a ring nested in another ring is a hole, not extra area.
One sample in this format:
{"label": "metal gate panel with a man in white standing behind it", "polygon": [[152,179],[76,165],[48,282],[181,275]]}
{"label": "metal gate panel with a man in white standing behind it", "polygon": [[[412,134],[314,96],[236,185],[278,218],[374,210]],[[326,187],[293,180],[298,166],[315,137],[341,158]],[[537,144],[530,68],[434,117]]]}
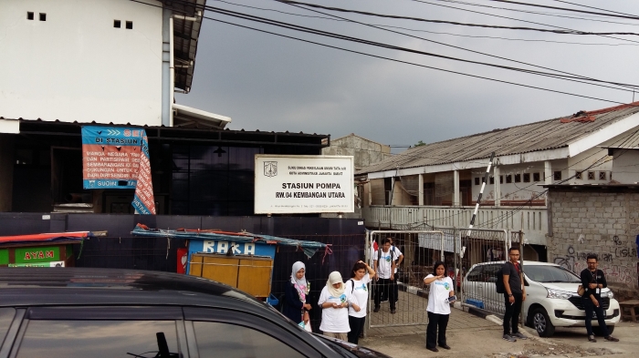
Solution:
{"label": "metal gate panel with a man in white standing behind it", "polygon": [[[368,231],[366,260],[375,271],[379,268],[373,265],[373,261],[385,238],[393,240],[393,246],[398,250],[394,257],[398,258],[401,251],[403,262],[394,274],[394,281],[386,284],[382,284],[384,281],[381,280],[372,281],[367,304],[368,328],[426,324],[428,301],[424,277],[433,271],[435,261],[445,261],[445,251],[455,252],[455,237],[446,237],[441,230]],[[451,264],[450,267],[452,270],[454,266]],[[379,310],[375,310],[376,307]]]}

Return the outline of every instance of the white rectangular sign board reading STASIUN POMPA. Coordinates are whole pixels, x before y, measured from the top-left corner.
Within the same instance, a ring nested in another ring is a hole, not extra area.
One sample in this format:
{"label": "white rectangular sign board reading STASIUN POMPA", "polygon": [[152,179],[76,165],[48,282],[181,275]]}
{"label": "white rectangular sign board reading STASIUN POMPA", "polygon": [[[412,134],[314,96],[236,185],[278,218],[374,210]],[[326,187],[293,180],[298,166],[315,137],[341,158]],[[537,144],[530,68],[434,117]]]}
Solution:
{"label": "white rectangular sign board reading STASIUN POMPA", "polygon": [[256,155],[256,214],[353,212],[351,156]]}

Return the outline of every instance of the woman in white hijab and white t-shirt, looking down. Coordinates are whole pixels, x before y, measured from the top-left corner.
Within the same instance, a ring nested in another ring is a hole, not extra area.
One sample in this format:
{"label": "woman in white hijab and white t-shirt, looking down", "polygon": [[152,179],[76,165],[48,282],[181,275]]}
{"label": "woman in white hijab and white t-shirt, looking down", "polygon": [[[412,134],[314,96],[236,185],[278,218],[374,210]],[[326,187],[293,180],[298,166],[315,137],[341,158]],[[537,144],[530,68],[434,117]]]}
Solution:
{"label": "woman in white hijab and white t-shirt, looking down", "polygon": [[349,297],[350,292],[345,292],[344,282],[341,281],[339,271],[332,271],[326,286],[319,294],[319,306],[321,306],[321,324],[319,330],[328,337],[348,340],[349,326]]}

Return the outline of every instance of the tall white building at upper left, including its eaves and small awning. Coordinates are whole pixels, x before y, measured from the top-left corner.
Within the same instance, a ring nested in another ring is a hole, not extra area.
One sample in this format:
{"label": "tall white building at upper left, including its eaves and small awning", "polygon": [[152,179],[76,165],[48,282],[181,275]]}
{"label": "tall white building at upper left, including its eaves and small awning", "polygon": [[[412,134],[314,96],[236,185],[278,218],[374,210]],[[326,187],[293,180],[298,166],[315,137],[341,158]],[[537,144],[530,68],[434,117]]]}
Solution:
{"label": "tall white building at upper left, including its eaves and small awning", "polygon": [[173,104],[188,93],[205,0],[3,0],[0,133],[17,119],[173,127],[230,118]]}

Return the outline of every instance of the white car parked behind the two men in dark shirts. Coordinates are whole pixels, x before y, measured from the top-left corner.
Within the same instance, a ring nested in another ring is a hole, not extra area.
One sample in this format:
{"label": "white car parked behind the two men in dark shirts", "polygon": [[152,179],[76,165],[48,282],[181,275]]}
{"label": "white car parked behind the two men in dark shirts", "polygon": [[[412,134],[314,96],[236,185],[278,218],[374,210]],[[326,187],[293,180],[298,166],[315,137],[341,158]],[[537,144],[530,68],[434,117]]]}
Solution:
{"label": "white car parked behind the two men in dark shirts", "polygon": [[[464,301],[488,312],[505,312],[504,294],[497,293],[497,271],[505,261],[482,262],[473,265],[464,278]],[[577,286],[581,280],[574,272],[554,263],[524,261],[526,301],[521,311],[526,324],[541,337],[550,337],[555,327],[585,327],[586,312]],[[602,289],[602,307],[608,332],[620,320],[619,302],[613,292]],[[592,319],[592,331],[602,335],[596,318]]]}

